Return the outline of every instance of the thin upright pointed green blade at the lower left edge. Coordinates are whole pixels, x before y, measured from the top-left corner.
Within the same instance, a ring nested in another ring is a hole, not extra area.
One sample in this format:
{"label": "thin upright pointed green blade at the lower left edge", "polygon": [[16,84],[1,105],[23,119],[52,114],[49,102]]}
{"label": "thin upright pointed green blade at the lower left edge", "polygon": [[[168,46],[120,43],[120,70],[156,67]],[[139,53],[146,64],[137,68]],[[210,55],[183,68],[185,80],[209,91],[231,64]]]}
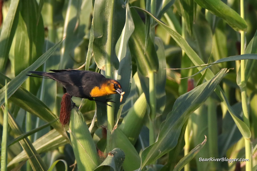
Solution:
{"label": "thin upright pointed green blade at the lower left edge", "polygon": [[8,131],[8,116],[7,116],[7,80],[5,80],[5,110],[3,115],[3,132],[1,142],[1,171],[7,170],[7,131]]}

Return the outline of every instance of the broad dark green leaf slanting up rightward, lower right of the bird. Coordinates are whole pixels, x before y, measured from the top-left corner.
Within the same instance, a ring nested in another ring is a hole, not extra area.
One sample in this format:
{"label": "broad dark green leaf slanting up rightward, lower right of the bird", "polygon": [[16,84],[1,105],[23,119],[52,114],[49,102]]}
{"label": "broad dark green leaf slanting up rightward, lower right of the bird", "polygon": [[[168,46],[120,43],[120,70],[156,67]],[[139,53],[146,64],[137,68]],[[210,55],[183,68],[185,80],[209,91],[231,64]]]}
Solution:
{"label": "broad dark green leaf slanting up rightward, lower right of the bird", "polygon": [[176,146],[184,122],[211,95],[225,72],[226,69],[222,69],[211,80],[178,97],[166,121],[160,126],[157,141],[142,152],[141,168]]}

